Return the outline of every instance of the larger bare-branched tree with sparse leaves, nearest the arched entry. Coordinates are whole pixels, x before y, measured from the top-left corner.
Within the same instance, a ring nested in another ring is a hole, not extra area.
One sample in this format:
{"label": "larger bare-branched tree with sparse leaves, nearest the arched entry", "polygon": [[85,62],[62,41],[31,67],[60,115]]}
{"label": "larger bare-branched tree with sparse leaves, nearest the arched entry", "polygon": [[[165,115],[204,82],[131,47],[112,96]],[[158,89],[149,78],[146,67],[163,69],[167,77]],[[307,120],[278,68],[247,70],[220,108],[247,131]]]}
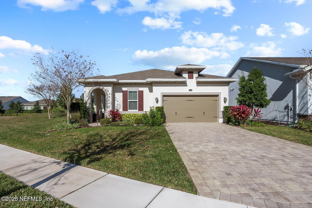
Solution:
{"label": "larger bare-branched tree with sparse leaves, nearest the arched entry", "polygon": [[66,103],[67,123],[71,120],[71,94],[80,85],[77,81],[92,76],[95,66],[95,62],[84,60],[78,53],[77,50],[71,52],[61,50],[58,53],[52,51],[45,59],[40,52],[37,52],[32,59],[36,67],[37,81],[51,85],[56,89],[54,92]]}

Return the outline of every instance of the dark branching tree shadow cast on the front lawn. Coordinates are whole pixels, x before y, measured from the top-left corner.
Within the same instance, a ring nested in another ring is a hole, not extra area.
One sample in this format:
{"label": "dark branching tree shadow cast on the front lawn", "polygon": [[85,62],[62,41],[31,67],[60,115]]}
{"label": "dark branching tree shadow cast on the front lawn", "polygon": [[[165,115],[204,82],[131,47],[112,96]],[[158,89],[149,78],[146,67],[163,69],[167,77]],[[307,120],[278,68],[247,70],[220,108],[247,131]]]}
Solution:
{"label": "dark branching tree shadow cast on the front lawn", "polygon": [[[142,136],[143,135],[143,136]],[[86,160],[86,164],[102,160],[105,155],[122,150],[128,151],[128,156],[134,156],[133,147],[144,142],[148,136],[148,129],[132,129],[107,135],[101,132],[89,133],[87,139],[77,148],[68,149],[62,154],[66,155],[64,161],[76,165]]]}

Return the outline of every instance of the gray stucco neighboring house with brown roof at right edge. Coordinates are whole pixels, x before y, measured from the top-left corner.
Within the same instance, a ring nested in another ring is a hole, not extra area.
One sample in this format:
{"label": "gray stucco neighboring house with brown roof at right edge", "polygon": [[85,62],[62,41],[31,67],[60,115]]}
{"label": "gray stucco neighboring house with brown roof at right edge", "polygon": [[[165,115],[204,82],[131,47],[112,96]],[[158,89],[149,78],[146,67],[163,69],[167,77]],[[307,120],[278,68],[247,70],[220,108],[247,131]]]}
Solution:
{"label": "gray stucco neighboring house with brown roof at right edge", "polygon": [[[312,63],[312,59],[310,59]],[[309,72],[311,66],[306,57],[241,57],[227,77],[237,78],[244,71],[248,72],[258,67],[266,78],[267,94],[271,104],[264,109],[263,120],[293,123],[299,118],[312,114],[312,92],[296,75]],[[311,82],[311,79],[304,79]],[[312,84],[312,83],[310,83]],[[238,82],[229,84],[229,105],[236,105],[239,93]]]}

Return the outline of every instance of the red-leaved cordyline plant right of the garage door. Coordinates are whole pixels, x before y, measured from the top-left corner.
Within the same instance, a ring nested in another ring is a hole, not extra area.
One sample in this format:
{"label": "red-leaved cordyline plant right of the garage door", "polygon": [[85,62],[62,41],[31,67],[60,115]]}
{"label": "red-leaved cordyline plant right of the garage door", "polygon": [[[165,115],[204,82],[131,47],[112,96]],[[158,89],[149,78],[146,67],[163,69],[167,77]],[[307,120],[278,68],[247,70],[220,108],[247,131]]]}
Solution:
{"label": "red-leaved cordyline plant right of the garage door", "polygon": [[244,124],[247,119],[261,119],[263,113],[260,113],[260,109],[252,109],[245,105],[235,105],[232,106],[229,112],[230,117],[238,119],[241,124]]}

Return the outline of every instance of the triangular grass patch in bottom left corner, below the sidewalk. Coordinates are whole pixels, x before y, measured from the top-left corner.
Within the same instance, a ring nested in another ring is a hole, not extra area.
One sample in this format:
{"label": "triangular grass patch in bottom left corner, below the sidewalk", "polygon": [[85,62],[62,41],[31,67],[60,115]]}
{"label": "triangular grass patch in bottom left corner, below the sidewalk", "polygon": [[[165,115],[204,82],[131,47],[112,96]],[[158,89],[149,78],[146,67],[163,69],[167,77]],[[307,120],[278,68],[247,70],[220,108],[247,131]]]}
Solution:
{"label": "triangular grass patch in bottom left corner, below the sidewalk", "polygon": [[74,207],[2,172],[0,172],[0,197],[0,207]]}

